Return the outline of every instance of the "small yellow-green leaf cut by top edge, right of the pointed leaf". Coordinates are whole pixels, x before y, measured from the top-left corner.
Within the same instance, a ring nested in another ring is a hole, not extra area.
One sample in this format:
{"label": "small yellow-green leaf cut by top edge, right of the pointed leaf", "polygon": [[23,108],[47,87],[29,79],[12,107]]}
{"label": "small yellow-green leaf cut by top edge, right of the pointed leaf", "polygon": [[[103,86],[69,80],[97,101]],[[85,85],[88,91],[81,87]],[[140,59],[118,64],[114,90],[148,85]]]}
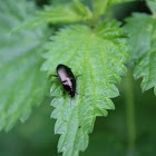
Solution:
{"label": "small yellow-green leaf cut by top edge, right of the pointed leaf", "polygon": [[133,0],[92,0],[94,14],[101,16],[107,12],[109,7],[121,2],[128,2],[128,1],[133,1]]}

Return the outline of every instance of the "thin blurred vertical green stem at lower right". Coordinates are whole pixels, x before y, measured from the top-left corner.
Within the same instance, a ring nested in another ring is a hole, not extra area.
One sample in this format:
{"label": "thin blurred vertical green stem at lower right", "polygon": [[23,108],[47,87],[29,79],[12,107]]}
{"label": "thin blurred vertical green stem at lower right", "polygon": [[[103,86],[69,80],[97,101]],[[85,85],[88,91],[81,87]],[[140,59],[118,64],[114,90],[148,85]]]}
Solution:
{"label": "thin blurred vertical green stem at lower right", "polygon": [[127,133],[128,133],[128,155],[133,156],[135,153],[135,104],[134,104],[134,86],[133,71],[128,69],[125,78],[125,98],[126,98],[126,114],[127,114]]}

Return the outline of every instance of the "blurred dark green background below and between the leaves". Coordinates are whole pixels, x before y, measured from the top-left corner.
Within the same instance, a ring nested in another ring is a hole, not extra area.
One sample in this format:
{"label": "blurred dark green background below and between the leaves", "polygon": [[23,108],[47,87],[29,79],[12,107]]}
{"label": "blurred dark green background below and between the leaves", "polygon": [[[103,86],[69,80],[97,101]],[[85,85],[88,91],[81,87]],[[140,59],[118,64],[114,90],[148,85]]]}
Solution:
{"label": "blurred dark green background below and between the leaves", "polygon": [[[64,0],[66,1],[66,0]],[[59,1],[57,1],[59,2]],[[39,7],[50,3],[50,0],[36,0]],[[116,18],[124,21],[134,11],[149,13],[142,2],[113,8]],[[111,12],[111,11],[110,11]],[[111,13],[108,16],[111,16]],[[142,94],[140,80],[133,81],[135,95],[135,152],[128,149],[127,108],[125,103],[124,80],[118,85],[120,96],[113,99],[116,110],[109,110],[108,117],[96,119],[94,133],[89,135],[89,146],[80,156],[154,156],[156,155],[156,98],[153,89]],[[55,119],[50,119],[52,107],[50,97],[33,109],[30,118],[20,121],[9,131],[0,133],[0,156],[59,156],[55,135]]]}

